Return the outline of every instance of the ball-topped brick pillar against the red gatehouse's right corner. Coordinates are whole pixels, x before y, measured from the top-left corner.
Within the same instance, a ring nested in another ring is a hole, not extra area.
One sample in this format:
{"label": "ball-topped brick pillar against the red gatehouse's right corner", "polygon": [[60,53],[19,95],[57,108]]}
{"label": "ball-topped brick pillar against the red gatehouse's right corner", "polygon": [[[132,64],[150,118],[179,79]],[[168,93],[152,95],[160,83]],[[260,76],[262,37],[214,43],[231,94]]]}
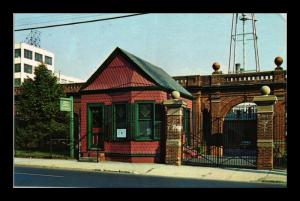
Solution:
{"label": "ball-topped brick pillar against the red gatehouse's right corner", "polygon": [[[174,92],[172,95],[175,94]],[[165,163],[181,165],[182,162],[182,132],[183,132],[183,108],[186,102],[179,99],[179,92],[173,95],[174,99],[164,101],[167,110],[166,123],[166,155]]]}

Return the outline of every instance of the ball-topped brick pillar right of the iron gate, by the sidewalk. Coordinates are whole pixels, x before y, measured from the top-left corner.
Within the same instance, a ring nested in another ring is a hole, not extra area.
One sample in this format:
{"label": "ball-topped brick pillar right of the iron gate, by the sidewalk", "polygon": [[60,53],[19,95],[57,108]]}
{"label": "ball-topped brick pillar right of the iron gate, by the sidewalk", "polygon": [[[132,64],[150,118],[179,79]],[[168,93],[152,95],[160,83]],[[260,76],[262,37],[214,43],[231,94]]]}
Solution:
{"label": "ball-topped brick pillar right of the iron gate, by the sidewalk", "polygon": [[262,95],[255,96],[257,104],[257,169],[273,169],[273,114],[277,97],[263,86]]}

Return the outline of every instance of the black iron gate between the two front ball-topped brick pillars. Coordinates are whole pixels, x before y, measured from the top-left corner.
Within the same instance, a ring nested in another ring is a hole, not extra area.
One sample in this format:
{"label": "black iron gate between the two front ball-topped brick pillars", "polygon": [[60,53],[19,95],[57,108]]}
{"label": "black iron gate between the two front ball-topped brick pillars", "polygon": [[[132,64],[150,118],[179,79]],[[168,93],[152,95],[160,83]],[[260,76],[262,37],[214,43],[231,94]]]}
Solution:
{"label": "black iron gate between the two front ball-topped brick pillars", "polygon": [[[207,119],[207,118],[206,118]],[[220,125],[218,133],[204,127],[202,137],[193,136],[190,145],[183,147],[183,163],[187,165],[256,168],[256,113],[242,112],[225,118],[208,118],[204,125]]]}

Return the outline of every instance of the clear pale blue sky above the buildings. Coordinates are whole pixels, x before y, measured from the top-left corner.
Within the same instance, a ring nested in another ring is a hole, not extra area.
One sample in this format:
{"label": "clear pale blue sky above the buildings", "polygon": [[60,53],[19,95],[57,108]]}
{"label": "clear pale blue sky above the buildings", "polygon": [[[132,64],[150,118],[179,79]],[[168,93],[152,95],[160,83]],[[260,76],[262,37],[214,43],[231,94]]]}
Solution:
{"label": "clear pale blue sky above the buildings", "polygon": [[[126,14],[15,14],[14,28],[122,15]],[[261,71],[273,70],[274,58],[279,55],[284,58],[282,66],[286,69],[286,14],[256,14],[256,19]],[[39,31],[41,47],[55,53],[55,70],[83,80],[88,79],[116,47],[163,68],[171,76],[209,75],[215,61],[221,63],[223,73],[228,72],[231,20],[231,13],[146,14]],[[15,42],[25,40],[29,32],[15,32]],[[246,70],[255,69],[251,48],[253,41],[247,43]],[[241,55],[241,51],[237,54]]]}

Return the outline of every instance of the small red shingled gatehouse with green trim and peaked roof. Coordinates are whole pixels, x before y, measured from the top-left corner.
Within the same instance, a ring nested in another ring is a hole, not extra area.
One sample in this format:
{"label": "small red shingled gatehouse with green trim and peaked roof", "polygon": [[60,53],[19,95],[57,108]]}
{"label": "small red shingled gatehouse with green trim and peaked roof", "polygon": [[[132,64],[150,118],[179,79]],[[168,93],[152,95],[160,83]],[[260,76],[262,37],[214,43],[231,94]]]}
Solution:
{"label": "small red shingled gatehouse with green trim and peaked roof", "polygon": [[161,68],[117,47],[80,89],[81,156],[98,152],[105,160],[164,162],[162,102],[174,90],[188,103],[185,114],[191,115],[187,90]]}

